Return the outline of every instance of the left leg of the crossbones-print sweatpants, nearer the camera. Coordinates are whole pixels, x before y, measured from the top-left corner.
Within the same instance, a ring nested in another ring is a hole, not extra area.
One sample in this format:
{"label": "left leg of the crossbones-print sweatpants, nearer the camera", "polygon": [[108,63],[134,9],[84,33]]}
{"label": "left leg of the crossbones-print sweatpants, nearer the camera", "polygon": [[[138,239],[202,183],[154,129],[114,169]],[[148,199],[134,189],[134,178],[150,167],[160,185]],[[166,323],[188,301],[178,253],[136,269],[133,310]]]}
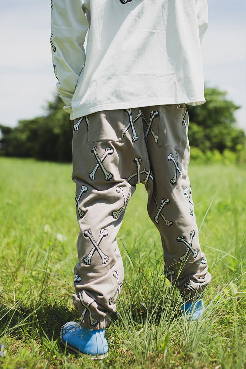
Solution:
{"label": "left leg of the crossbones-print sweatpants, nearer the camera", "polygon": [[138,138],[133,123],[129,125],[130,114],[103,111],[74,125],[72,179],[80,232],[72,297],[80,323],[96,330],[104,328],[116,310],[124,277],[116,235],[140,182],[138,165],[147,155],[145,145],[138,152],[134,145],[136,139],[144,142],[141,111],[132,110],[141,131]]}

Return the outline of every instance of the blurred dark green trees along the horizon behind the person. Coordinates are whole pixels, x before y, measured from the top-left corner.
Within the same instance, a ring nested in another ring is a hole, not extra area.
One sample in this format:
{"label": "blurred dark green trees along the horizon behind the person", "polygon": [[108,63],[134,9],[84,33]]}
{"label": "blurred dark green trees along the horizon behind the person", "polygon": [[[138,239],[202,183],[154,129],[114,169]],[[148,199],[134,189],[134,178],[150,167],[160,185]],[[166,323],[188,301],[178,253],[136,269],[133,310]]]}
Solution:
{"label": "blurred dark green trees along the horizon behind the person", "polygon": [[[246,135],[236,127],[234,113],[239,106],[227,100],[226,95],[216,88],[205,88],[206,104],[187,105],[188,138],[190,146],[203,154],[230,151],[240,157],[246,151]],[[2,156],[72,161],[72,123],[58,95],[47,103],[44,116],[21,120],[14,128],[0,125],[0,130]]]}

